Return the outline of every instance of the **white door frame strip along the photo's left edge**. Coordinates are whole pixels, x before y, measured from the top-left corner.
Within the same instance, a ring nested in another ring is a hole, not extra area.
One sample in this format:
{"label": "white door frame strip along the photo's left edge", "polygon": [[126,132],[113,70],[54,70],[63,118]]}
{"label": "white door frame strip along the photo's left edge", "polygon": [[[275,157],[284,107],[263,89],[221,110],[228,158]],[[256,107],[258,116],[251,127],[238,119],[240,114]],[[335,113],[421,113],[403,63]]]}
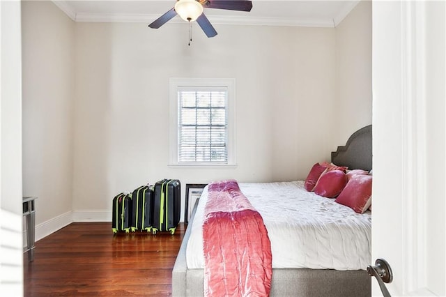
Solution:
{"label": "white door frame strip along the photo's left edge", "polygon": [[0,294],[23,295],[20,1],[0,1]]}

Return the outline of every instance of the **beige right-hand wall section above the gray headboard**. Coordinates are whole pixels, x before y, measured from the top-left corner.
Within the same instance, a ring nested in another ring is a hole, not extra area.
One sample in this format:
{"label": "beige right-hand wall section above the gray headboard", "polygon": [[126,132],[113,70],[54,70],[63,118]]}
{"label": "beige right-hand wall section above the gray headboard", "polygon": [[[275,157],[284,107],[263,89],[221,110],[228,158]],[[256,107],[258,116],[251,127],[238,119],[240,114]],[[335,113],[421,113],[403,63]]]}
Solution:
{"label": "beige right-hand wall section above the gray headboard", "polygon": [[[336,28],[339,143],[371,124],[371,1],[361,1]],[[333,148],[334,149],[334,148]]]}

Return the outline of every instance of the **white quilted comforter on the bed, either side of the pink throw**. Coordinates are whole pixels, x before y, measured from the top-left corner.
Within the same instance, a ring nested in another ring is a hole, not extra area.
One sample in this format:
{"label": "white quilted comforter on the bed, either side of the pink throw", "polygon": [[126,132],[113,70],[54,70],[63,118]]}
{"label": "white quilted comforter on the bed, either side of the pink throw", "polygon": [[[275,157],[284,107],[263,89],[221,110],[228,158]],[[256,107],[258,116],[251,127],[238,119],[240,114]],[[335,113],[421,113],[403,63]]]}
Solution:
{"label": "white quilted comforter on the bed, either side of the pink throw", "polygon": [[[371,263],[371,213],[355,213],[334,199],[307,192],[303,181],[240,183],[262,215],[271,241],[272,268],[366,269]],[[199,200],[187,243],[188,268],[204,268],[203,210]]]}

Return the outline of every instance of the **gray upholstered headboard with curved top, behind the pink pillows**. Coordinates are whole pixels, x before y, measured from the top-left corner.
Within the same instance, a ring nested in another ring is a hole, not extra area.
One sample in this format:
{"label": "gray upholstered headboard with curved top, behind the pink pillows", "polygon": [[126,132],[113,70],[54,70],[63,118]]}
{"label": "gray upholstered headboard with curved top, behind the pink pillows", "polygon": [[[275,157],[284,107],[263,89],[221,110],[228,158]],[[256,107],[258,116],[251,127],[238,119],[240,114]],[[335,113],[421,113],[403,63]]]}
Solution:
{"label": "gray upholstered headboard with curved top, behind the pink pillows", "polygon": [[338,146],[332,152],[332,162],[348,169],[370,171],[371,166],[371,125],[354,132],[345,146]]}

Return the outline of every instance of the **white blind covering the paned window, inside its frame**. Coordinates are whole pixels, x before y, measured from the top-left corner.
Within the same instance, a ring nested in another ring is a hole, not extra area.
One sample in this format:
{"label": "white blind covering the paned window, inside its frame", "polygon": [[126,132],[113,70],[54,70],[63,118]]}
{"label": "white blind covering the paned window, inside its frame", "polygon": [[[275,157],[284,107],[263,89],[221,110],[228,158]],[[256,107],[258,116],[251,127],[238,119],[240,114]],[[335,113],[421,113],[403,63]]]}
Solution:
{"label": "white blind covering the paned window, inside its frame", "polygon": [[178,163],[228,162],[225,87],[178,88]]}

